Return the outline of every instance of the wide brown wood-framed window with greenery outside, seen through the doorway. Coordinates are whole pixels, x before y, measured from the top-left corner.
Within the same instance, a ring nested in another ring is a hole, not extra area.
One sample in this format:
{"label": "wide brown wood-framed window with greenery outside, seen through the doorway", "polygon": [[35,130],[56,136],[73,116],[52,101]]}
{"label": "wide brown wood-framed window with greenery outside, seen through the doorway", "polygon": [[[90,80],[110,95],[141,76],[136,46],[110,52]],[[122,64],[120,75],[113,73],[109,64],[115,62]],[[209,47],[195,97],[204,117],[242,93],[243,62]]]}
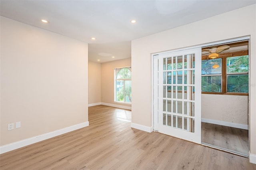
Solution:
{"label": "wide brown wood-framed window with greenery outside, seen through the doorway", "polygon": [[249,56],[202,60],[202,93],[248,95]]}

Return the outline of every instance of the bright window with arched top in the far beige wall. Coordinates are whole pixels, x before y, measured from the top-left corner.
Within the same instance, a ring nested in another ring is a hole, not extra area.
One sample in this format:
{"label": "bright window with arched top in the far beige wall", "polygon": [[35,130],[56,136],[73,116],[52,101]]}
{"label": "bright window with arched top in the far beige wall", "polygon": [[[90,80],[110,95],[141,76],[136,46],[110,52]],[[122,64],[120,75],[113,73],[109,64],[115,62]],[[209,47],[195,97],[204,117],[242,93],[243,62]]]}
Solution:
{"label": "bright window with arched top in the far beige wall", "polygon": [[115,100],[117,102],[132,103],[132,71],[131,67],[114,69]]}

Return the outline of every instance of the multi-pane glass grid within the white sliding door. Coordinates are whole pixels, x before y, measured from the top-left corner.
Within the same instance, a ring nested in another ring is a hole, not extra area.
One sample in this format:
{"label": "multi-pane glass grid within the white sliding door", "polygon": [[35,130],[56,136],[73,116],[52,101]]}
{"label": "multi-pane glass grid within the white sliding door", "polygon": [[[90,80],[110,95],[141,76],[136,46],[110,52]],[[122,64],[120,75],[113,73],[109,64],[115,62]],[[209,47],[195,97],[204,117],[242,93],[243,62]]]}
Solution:
{"label": "multi-pane glass grid within the white sliding door", "polygon": [[194,132],[194,97],[193,93],[188,95],[188,92],[194,92],[194,55],[164,58],[163,63],[163,124]]}

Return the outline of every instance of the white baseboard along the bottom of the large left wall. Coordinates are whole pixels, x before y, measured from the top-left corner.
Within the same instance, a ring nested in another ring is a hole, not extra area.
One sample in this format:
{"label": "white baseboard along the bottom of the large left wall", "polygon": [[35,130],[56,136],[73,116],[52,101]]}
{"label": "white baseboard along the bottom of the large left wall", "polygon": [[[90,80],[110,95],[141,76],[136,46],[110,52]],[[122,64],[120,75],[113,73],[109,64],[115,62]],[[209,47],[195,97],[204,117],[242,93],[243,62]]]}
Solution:
{"label": "white baseboard along the bottom of the large left wall", "polygon": [[60,134],[71,132],[71,131],[77,130],[79,128],[87,127],[87,126],[89,126],[88,121],[86,121],[84,123],[77,124],[77,125],[73,125],[73,126],[70,126],[70,127],[55,130],[53,132],[48,132],[48,133],[45,133],[45,134],[34,136],[32,138],[27,138],[27,139],[24,139],[24,140],[20,140],[18,142],[14,142],[14,143],[11,143],[11,144],[6,144],[6,145],[3,145],[3,146],[0,146],[0,154],[5,153],[5,152],[9,152],[11,150],[18,149],[18,148],[21,148],[21,147],[24,147],[24,146],[27,146],[27,145],[30,145],[30,144],[34,144],[36,142],[40,142],[40,141],[46,140],[48,138],[58,136]]}

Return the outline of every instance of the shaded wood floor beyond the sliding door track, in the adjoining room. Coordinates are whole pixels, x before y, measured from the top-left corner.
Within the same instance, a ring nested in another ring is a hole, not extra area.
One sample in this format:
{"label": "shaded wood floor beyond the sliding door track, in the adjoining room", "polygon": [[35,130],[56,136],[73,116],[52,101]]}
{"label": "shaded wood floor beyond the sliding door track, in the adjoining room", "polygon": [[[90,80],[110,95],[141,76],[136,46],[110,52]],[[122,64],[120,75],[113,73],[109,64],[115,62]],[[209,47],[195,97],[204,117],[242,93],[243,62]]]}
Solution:
{"label": "shaded wood floor beyond the sliding door track, in the adjoining room", "polygon": [[248,130],[202,122],[202,142],[248,156]]}

